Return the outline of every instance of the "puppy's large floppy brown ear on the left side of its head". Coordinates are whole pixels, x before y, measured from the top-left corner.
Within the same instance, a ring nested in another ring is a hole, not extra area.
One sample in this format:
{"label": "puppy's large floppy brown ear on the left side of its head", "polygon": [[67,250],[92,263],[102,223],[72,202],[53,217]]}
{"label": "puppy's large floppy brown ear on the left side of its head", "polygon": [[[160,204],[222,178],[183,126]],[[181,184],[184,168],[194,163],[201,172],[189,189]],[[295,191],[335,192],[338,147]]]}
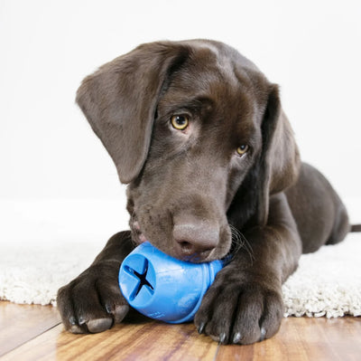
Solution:
{"label": "puppy's large floppy brown ear on the left side of its head", "polygon": [[79,107],[113,158],[122,183],[141,172],[162,87],[186,56],[185,47],[171,42],[143,44],[106,63],[80,85]]}

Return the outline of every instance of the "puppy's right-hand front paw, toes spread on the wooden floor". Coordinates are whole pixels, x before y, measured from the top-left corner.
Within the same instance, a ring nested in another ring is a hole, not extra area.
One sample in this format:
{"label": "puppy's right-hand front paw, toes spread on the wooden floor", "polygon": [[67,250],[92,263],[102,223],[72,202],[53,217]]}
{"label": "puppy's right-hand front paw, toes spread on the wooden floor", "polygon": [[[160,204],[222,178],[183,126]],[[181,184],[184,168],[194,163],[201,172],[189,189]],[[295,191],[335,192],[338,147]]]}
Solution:
{"label": "puppy's right-hand front paw, toes spread on the wooden floor", "polygon": [[225,269],[206,293],[194,322],[199,333],[222,344],[247,345],[272,337],[282,316],[281,286],[236,277]]}

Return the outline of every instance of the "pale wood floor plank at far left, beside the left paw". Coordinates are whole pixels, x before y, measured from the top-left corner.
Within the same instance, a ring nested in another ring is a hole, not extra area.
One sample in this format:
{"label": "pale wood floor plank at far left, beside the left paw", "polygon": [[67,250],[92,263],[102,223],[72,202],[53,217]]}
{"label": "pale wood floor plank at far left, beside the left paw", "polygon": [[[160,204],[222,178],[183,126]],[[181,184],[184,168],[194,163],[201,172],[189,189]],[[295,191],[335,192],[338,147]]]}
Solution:
{"label": "pale wood floor plank at far left, beside the left paw", "polygon": [[56,308],[0,301],[0,356],[60,324]]}

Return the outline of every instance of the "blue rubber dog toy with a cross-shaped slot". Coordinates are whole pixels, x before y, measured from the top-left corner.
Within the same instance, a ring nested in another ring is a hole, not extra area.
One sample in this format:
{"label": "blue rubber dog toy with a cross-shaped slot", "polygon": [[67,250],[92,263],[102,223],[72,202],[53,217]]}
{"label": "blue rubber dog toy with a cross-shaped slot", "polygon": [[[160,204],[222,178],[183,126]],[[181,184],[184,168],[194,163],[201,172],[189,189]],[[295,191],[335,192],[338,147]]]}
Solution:
{"label": "blue rubber dog toy with a cross-shaped slot", "polygon": [[125,258],[119,286],[129,305],[149,318],[182,323],[194,318],[223,261],[180,261],[143,242]]}

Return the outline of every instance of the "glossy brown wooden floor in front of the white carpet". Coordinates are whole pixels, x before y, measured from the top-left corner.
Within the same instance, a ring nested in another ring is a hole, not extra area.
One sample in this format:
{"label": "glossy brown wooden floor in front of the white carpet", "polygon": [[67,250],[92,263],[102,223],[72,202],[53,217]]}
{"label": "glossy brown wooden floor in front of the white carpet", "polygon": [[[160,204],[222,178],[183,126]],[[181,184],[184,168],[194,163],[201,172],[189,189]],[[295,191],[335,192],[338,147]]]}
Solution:
{"label": "glossy brown wooden floor in front of the white carpet", "polygon": [[30,360],[361,360],[361,318],[285,318],[272,339],[218,346],[192,324],[134,318],[97,335],[72,335],[50,306],[0,301],[0,359]]}

